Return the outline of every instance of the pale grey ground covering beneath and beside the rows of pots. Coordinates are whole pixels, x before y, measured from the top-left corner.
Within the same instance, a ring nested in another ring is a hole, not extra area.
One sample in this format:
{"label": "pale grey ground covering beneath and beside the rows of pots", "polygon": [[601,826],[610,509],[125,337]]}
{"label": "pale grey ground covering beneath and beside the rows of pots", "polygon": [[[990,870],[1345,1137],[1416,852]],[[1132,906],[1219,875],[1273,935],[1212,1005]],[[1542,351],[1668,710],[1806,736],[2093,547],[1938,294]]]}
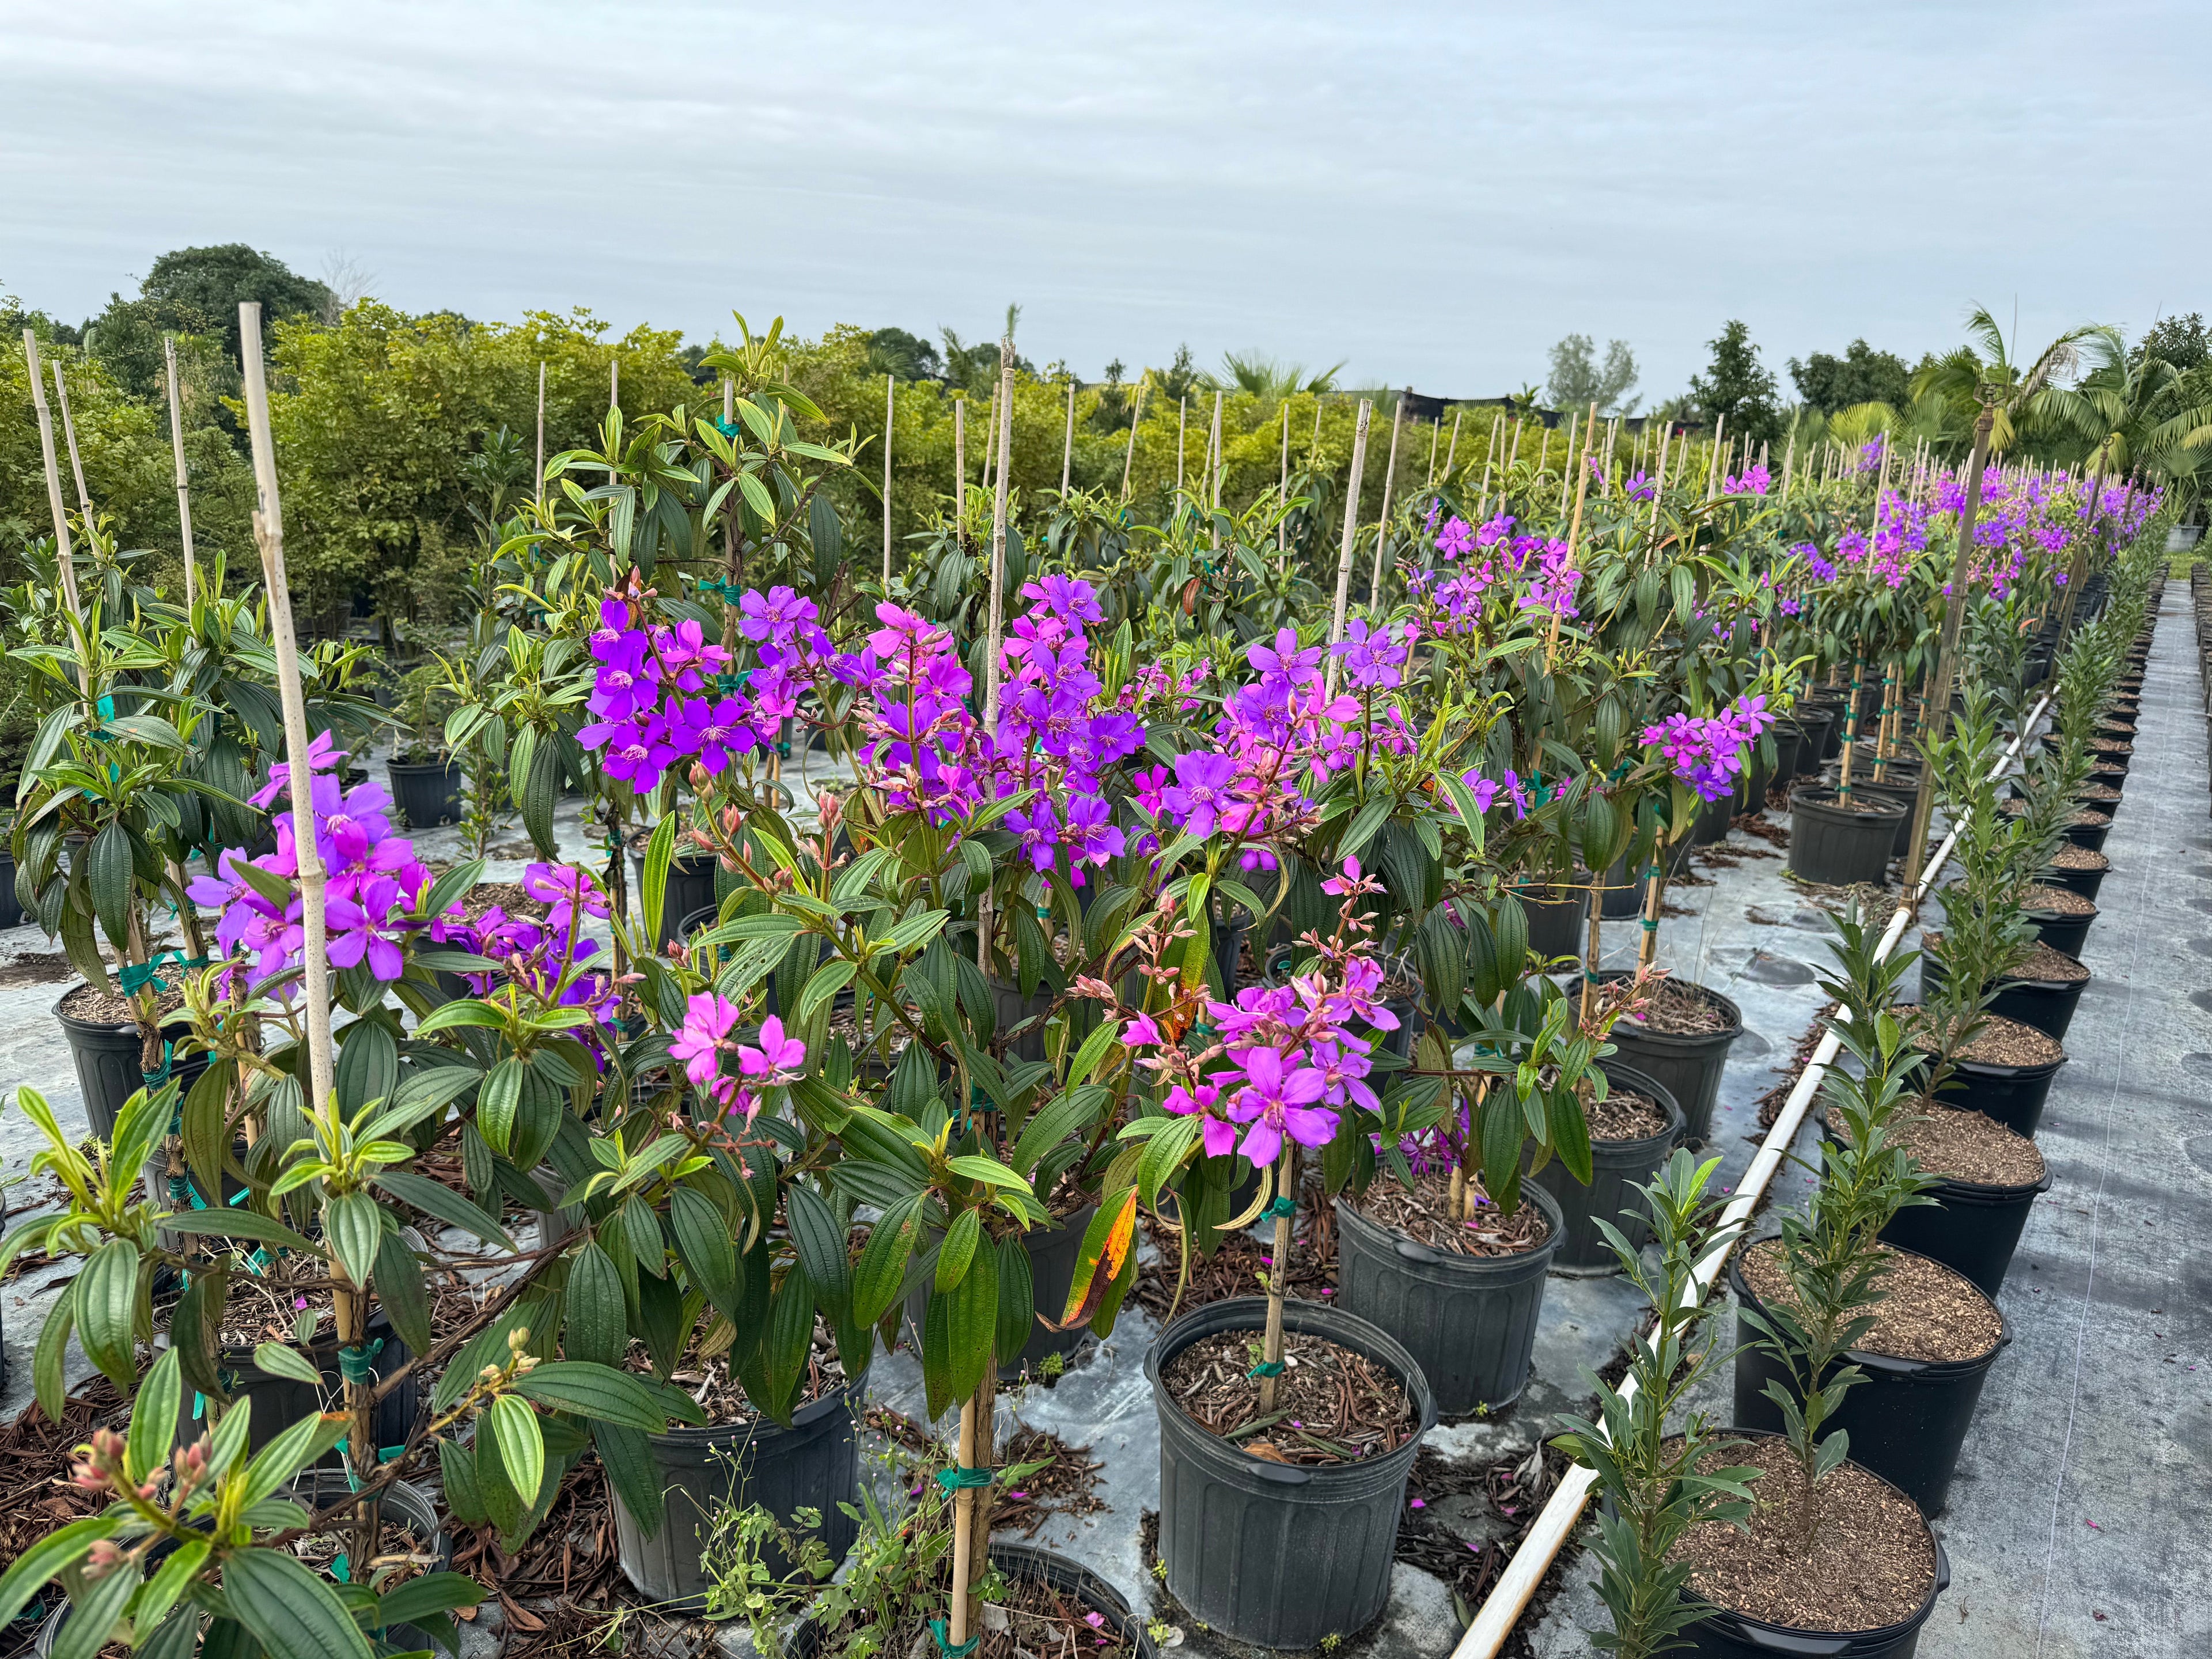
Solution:
{"label": "pale grey ground covering beneath and beside the rows of pots", "polygon": [[[1953,1588],[1920,1652],[2024,1655],[2212,1652],[2212,1380],[2208,1343],[2208,1243],[2194,1232],[2212,1210],[2212,821],[2205,816],[2205,734],[2190,650],[2188,591],[2163,606],[2143,701],[2132,787],[2108,852],[2101,920],[2086,960],[2095,969],[2075,1029],[2073,1064],[2059,1073],[2039,1144],[2057,1183],[2028,1223],[2002,1307],[2013,1347],[1982,1396],[1975,1436],[1938,1531],[1951,1555]],[[449,856],[451,832],[422,836]],[[573,812],[564,852],[584,847]],[[520,834],[502,841],[491,876],[513,878],[526,858]],[[1697,860],[1710,885],[1674,887],[1683,909],[1661,925],[1659,962],[1734,998],[1745,1035],[1721,1086],[1710,1150],[1732,1186],[1759,1141],[1759,1095],[1781,1082],[1792,1046],[1820,1006],[1814,971],[1827,962],[1825,896],[1783,876],[1763,838],[1732,832]],[[1635,922],[1606,929],[1608,958],[1635,956]],[[60,1031],[49,1018],[71,982],[35,929],[0,936],[0,1088],[35,1082],[82,1126],[82,1104]],[[29,1159],[27,1124],[0,1113],[0,1157],[11,1172]],[[1809,1177],[1785,1168],[1776,1201],[1801,1197]],[[27,1190],[11,1190],[22,1203]],[[13,1217],[20,1219],[20,1217]],[[9,1380],[0,1409],[29,1398],[29,1356],[51,1285],[35,1274],[0,1287]],[[1557,1411],[1579,1407],[1582,1367],[1617,1352],[1637,1307],[1610,1279],[1555,1276],[1537,1334],[1535,1376],[1522,1402],[1486,1420],[1449,1422],[1429,1444],[1447,1471],[1473,1471],[1528,1449]],[[1159,1429],[1144,1385],[1144,1349],[1157,1327],[1135,1305],[1108,1343],[1082,1349],[1053,1389],[1009,1400],[1015,1416],[1088,1447],[1104,1462],[1104,1509],[1055,1517],[1035,1542],[1113,1582],[1133,1604],[1175,1617],[1139,1546],[1141,1522],[1159,1504]],[[2203,1367],[2203,1369],[2199,1369]],[[1725,1402],[1728,1380],[1717,1378]],[[869,1394],[920,1416],[911,1356],[878,1360]],[[1422,1524],[1469,1548],[1506,1531],[1480,1493],[1431,1504]],[[1586,1568],[1568,1564],[1566,1590],[1535,1617],[1524,1639],[1540,1655],[1584,1655],[1599,1621]],[[471,1648],[489,1637],[471,1630]],[[1400,1564],[1385,1619],[1345,1644],[1387,1659],[1440,1659],[1460,1635],[1447,1586]],[[1188,1628],[1181,1646],[1228,1655],[1234,1644]],[[489,1652],[489,1644],[487,1644]]]}

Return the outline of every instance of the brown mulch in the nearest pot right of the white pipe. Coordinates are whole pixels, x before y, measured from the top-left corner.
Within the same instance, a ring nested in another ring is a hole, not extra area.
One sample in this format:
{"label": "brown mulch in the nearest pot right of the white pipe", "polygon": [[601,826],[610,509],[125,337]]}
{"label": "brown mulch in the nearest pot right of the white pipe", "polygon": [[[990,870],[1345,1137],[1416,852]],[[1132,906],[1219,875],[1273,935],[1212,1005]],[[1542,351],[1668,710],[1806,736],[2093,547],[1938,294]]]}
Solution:
{"label": "brown mulch in the nearest pot right of the white pipe", "polygon": [[1818,1524],[1803,1535],[1798,1464],[1781,1438],[1761,1436],[1708,1467],[1752,1467],[1759,1506],[1750,1535],[1705,1522],[1674,1546],[1690,1588],[1719,1608],[1794,1630],[1882,1630],[1902,1624],[1936,1584],[1936,1540],[1913,1500],[1856,1462],[1814,1491]]}

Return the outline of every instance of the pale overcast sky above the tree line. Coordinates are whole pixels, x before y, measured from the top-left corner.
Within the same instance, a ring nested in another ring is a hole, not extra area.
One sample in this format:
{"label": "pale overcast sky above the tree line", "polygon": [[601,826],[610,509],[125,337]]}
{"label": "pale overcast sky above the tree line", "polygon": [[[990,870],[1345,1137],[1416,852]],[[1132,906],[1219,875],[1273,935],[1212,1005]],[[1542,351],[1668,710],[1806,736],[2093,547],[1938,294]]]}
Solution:
{"label": "pale overcast sky above the tree line", "polygon": [[[730,310],[1263,349],[1489,396],[1566,332],[1679,392],[2212,310],[2203,4],[24,4],[0,292],[334,254],[405,310]],[[1785,376],[1787,389],[1787,376]]]}

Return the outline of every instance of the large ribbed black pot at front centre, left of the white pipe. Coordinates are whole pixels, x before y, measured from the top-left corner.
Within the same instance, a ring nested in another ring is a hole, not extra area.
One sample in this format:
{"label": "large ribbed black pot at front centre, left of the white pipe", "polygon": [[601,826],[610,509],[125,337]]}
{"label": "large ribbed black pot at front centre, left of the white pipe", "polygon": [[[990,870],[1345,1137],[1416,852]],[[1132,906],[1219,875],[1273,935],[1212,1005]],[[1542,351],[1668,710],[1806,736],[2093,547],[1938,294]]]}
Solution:
{"label": "large ribbed black pot at front centre, left of the white pipe", "polygon": [[1398,1449],[1360,1462],[1254,1458],[1201,1429],[1168,1398],[1159,1374],[1201,1336],[1259,1332],[1265,1323],[1265,1298],[1239,1296],[1183,1314],[1144,1354],[1159,1416],[1159,1555],[1168,1593],[1212,1630],[1263,1648],[1314,1648],[1323,1637],[1360,1632],[1389,1601],[1405,1482],[1422,1436],[1436,1427],[1436,1396],[1413,1356],[1365,1318],[1287,1303],[1285,1329],[1383,1365],[1405,1387],[1420,1427]]}

